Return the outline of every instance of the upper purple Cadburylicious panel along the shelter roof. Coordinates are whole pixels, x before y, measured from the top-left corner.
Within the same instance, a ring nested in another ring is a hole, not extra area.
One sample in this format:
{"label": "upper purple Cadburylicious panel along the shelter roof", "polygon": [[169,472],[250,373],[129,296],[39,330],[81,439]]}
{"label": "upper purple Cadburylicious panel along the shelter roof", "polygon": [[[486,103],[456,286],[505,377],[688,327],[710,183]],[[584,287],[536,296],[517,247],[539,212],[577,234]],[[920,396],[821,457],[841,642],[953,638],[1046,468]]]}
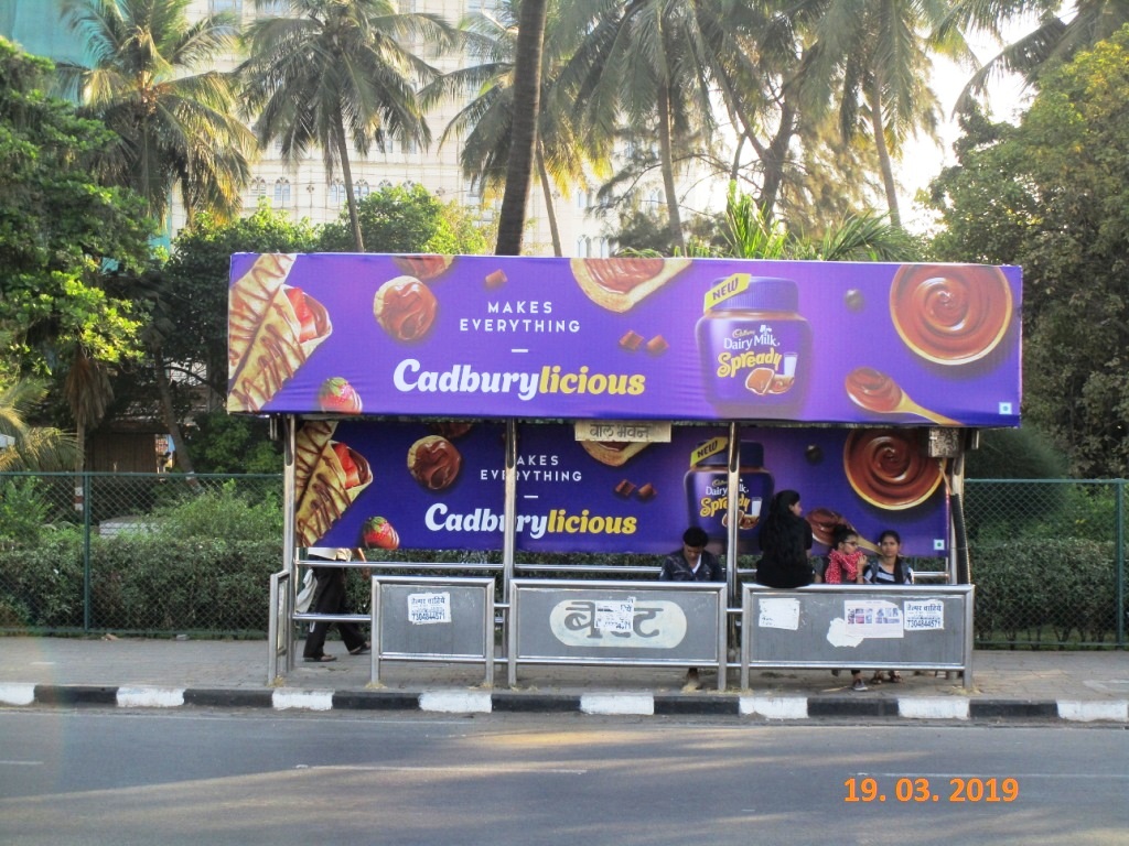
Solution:
{"label": "upper purple Cadburylicious panel along the shelter roof", "polygon": [[1019,268],[231,258],[228,411],[1019,422]]}

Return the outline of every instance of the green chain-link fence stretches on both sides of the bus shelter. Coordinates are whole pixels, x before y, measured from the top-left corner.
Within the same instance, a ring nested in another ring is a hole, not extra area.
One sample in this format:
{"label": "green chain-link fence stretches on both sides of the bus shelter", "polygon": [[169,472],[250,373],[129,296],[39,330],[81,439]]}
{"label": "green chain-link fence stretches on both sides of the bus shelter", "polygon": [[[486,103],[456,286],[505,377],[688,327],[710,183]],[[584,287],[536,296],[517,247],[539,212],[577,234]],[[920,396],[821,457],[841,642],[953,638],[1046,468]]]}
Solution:
{"label": "green chain-link fence stretches on both sides of the bus shelter", "polygon": [[[966,483],[979,646],[1126,646],[1126,484]],[[281,538],[280,476],[0,474],[0,632],[262,636]]]}

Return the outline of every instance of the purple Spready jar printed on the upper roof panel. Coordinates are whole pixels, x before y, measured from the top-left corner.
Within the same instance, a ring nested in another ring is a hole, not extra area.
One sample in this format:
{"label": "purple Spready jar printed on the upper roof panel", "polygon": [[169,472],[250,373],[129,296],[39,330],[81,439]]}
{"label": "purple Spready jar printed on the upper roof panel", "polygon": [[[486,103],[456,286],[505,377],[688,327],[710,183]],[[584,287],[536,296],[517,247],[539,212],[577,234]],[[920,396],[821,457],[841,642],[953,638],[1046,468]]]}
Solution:
{"label": "purple Spready jar printed on the upper roof panel", "polygon": [[790,279],[735,273],[715,281],[698,320],[707,394],[734,414],[796,406],[807,390],[812,328]]}

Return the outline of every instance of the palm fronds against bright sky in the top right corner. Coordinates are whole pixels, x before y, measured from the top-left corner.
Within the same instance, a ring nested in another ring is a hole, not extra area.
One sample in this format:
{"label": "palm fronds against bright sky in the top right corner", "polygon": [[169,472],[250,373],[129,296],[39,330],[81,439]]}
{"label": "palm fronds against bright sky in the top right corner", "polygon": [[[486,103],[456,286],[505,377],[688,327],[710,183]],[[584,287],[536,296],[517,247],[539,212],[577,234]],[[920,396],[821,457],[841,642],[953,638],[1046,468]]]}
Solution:
{"label": "palm fronds against bright sky in the top right corner", "polygon": [[969,80],[956,107],[966,111],[971,98],[983,94],[996,76],[1015,72],[1029,86],[1044,68],[1068,61],[1079,50],[1092,47],[1129,24],[1126,0],[1078,0],[1069,9],[1057,0],[957,0],[951,15],[954,25],[980,29],[999,37],[999,25],[1017,17],[1039,15],[1039,25],[1008,44]]}

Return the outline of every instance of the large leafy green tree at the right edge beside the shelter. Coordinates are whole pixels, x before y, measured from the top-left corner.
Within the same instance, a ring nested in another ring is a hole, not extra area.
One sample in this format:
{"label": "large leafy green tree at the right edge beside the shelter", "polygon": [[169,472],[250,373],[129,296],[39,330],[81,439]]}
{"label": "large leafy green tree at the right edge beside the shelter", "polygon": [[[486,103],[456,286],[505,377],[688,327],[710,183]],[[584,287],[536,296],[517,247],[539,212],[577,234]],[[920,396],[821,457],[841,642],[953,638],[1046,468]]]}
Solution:
{"label": "large leafy green tree at the right edge beside the shelter", "polygon": [[1025,415],[1083,476],[1129,473],[1129,27],[1043,77],[931,187],[942,258],[1024,267]]}

